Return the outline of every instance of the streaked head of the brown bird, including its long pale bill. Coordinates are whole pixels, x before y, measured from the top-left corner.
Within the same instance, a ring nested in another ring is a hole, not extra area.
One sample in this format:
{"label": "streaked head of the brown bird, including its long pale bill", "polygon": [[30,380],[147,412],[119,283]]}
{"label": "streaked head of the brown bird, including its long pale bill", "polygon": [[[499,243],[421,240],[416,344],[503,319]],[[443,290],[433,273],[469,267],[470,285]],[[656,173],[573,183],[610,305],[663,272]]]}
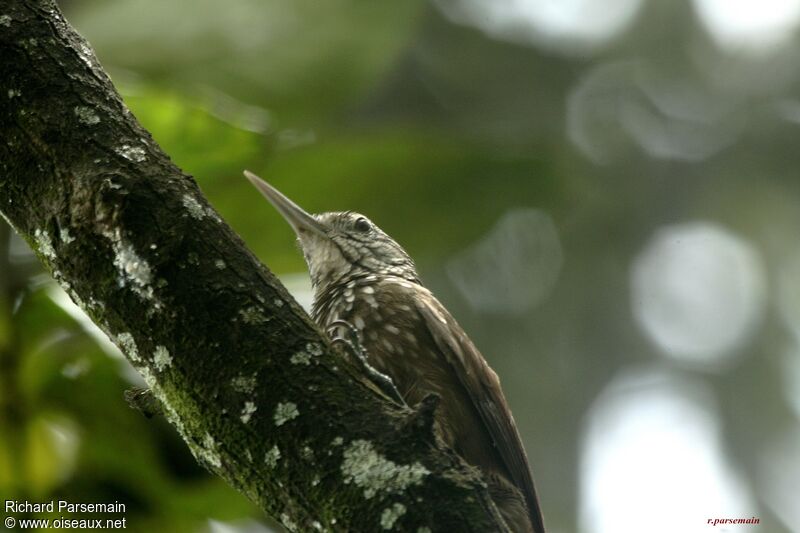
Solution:
{"label": "streaked head of the brown bird, including its long pale bill", "polygon": [[315,289],[370,274],[419,283],[405,250],[364,215],[312,215],[252,172],[244,175],[294,229]]}

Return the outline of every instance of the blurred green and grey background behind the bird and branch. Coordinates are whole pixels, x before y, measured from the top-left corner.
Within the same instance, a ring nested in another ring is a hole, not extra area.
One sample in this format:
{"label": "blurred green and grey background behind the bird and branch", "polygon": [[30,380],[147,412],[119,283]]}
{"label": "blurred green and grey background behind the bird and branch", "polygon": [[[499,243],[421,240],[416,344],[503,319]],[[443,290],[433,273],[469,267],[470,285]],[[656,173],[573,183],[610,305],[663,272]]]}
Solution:
{"label": "blurred green and grey background behind the bird and branch", "polygon": [[[500,375],[552,533],[800,531],[800,0],[59,3],[302,303],[242,169],[405,246]],[[128,409],[135,372],[0,237],[3,498],[281,531]]]}

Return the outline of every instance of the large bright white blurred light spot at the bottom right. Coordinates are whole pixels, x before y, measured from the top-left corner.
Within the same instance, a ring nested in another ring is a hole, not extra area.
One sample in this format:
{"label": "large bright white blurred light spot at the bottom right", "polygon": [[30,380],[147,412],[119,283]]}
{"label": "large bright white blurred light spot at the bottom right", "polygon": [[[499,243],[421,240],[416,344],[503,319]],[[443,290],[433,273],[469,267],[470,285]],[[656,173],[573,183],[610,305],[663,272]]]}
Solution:
{"label": "large bright white blurred light spot at the bottom right", "polygon": [[597,397],[581,453],[582,533],[707,532],[758,514],[725,459],[711,391],[658,368],[622,372]]}

